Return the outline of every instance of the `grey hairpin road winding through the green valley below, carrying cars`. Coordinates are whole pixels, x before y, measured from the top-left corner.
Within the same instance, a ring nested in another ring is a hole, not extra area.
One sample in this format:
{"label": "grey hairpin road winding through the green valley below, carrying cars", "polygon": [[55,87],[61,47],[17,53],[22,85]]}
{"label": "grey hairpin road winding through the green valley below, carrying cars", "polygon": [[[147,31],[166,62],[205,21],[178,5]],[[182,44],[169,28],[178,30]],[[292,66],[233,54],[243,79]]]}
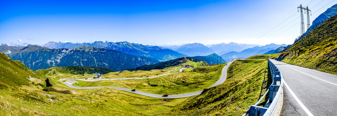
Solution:
{"label": "grey hairpin road winding through the green valley below, carrying cars", "polygon": [[[228,66],[231,65],[233,62],[234,62],[234,60],[228,62],[227,65],[225,65],[223,67],[220,79],[213,86],[211,86],[211,87],[218,86],[218,85],[222,84],[226,80]],[[184,70],[184,69],[183,68],[180,69],[180,72],[182,72],[182,70]],[[173,74],[173,73],[168,73],[168,74]],[[163,75],[168,75],[168,74],[163,74]],[[163,76],[163,75],[158,75],[158,76]],[[158,77],[158,76],[153,76],[153,77]],[[147,77],[147,78],[153,78],[153,77]],[[121,80],[121,79],[146,79],[146,78],[76,79],[76,80],[82,80],[82,81],[102,81],[102,80]],[[62,82],[63,80],[73,80],[73,79],[60,79],[59,81]],[[76,89],[104,88],[104,87],[75,87],[75,86],[72,86],[70,83],[67,83],[67,82],[62,82],[62,83],[65,84],[65,85],[67,85],[68,87],[76,88]],[[162,97],[163,95],[151,94],[151,93],[141,92],[141,91],[137,91],[137,90],[136,91],[131,91],[132,89],[128,89],[128,88],[122,88],[122,87],[110,87],[110,88],[115,88],[115,89],[118,89],[118,90],[128,91],[128,92],[132,92],[132,93],[136,93],[136,94],[140,94],[140,95],[145,95],[145,96],[149,96],[149,97],[154,97],[154,98],[184,98],[184,97],[190,97],[190,96],[199,95],[203,91],[203,90],[201,90],[201,91],[197,91],[197,92],[193,92],[193,93],[179,94],[179,95],[169,95],[168,97]],[[210,88],[210,87],[208,87],[208,88]]]}

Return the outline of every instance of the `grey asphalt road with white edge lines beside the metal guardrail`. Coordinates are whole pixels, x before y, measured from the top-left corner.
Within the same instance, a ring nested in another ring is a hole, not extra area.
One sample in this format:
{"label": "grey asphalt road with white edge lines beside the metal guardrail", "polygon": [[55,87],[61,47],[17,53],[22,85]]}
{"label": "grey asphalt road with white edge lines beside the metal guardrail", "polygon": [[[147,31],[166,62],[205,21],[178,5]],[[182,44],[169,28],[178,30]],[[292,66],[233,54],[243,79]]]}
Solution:
{"label": "grey asphalt road with white edge lines beside the metal guardrail", "polygon": [[286,82],[282,116],[337,116],[337,75],[270,61]]}

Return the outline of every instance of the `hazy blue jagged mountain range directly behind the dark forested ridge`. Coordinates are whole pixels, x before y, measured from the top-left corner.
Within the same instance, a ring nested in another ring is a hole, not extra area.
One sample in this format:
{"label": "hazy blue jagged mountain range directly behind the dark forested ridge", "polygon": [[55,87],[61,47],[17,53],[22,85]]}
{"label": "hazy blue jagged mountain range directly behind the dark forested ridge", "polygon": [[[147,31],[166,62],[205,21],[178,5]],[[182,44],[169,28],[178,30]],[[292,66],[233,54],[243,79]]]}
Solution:
{"label": "hazy blue jagged mountain range directly behind the dark forested ridge", "polygon": [[44,45],[44,47],[48,47],[51,49],[58,49],[58,48],[76,48],[79,46],[92,46],[92,47],[99,47],[105,49],[111,49],[120,51],[126,54],[131,54],[135,56],[144,56],[148,58],[154,58],[159,61],[167,61],[175,58],[180,57],[188,57],[187,55],[178,53],[171,49],[159,47],[159,46],[152,46],[152,45],[143,45],[138,43],[129,43],[129,42],[93,42],[93,43],[61,43],[61,42],[49,42]]}

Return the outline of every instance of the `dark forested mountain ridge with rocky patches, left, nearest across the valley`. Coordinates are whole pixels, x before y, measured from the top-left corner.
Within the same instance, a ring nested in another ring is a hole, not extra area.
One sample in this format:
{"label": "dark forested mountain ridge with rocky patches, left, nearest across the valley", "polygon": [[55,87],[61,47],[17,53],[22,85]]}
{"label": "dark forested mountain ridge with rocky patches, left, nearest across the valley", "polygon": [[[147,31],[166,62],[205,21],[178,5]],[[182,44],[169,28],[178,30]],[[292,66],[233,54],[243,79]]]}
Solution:
{"label": "dark forested mountain ridge with rocky patches, left, nearest across the valley", "polygon": [[23,62],[34,71],[50,67],[95,66],[123,71],[142,65],[155,64],[152,58],[125,54],[116,50],[81,46],[76,48],[50,49],[37,45],[16,47],[1,45],[0,52]]}

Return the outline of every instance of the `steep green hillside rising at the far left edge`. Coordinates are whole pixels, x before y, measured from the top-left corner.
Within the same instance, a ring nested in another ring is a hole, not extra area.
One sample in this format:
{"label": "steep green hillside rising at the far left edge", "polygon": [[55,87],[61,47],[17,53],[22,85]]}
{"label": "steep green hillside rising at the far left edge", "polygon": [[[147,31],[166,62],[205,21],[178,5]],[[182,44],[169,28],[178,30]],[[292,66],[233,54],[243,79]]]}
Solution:
{"label": "steep green hillside rising at the far left edge", "polygon": [[0,53],[0,89],[8,87],[31,86],[35,81],[43,83],[43,75],[28,69],[22,62],[7,57]]}

